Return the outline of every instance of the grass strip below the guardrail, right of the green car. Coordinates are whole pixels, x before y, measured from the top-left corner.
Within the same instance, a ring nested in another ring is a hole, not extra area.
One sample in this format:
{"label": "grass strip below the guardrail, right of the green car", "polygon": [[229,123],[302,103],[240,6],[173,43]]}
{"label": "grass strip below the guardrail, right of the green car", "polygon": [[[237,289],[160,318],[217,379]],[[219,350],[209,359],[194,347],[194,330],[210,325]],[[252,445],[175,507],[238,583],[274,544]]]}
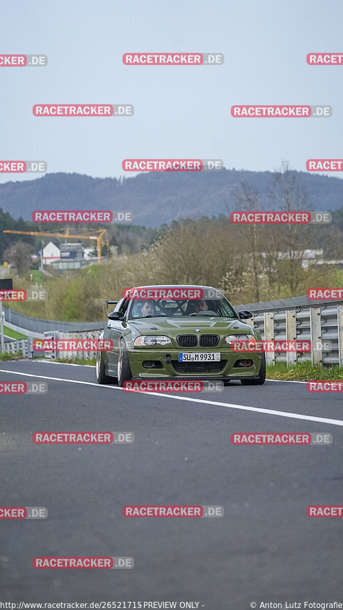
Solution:
{"label": "grass strip below the guardrail, right of the green car", "polygon": [[286,362],[276,362],[267,365],[267,379],[284,379],[285,381],[310,381],[311,379],[324,379],[336,381],[343,379],[343,367],[314,367],[311,362],[299,362],[287,367]]}

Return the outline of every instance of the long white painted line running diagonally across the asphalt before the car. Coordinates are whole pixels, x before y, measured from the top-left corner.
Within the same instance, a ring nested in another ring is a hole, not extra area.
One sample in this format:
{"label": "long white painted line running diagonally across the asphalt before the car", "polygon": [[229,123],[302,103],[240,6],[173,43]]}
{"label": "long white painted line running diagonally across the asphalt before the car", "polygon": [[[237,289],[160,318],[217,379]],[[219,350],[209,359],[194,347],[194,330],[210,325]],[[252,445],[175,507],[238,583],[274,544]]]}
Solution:
{"label": "long white painted line running diagonally across the asphalt before the car", "polygon": [[[38,377],[39,379],[51,379],[51,381],[65,381],[67,383],[78,383],[84,386],[96,386],[103,387],[109,390],[121,390],[123,388],[119,386],[106,386],[99,385],[97,383],[93,383],[91,381],[78,381],[76,379],[61,379],[59,377],[47,377],[45,375],[32,375],[31,373],[17,373],[16,371],[9,371],[7,369],[0,368],[0,373],[10,373],[12,375],[22,375],[23,377]],[[287,411],[275,411],[275,409],[261,409],[260,407],[247,407],[244,404],[231,404],[231,403],[219,403],[214,400],[203,400],[202,398],[188,398],[186,396],[173,396],[171,394],[164,394],[159,392],[143,392],[139,390],[138,392],[132,392],[137,394],[149,394],[151,396],[161,396],[162,398],[173,398],[174,400],[187,400],[192,403],[202,403],[202,404],[214,404],[219,407],[227,407],[228,409],[240,409],[241,411],[253,411],[256,413],[264,413],[267,415],[278,415],[279,417],[290,417],[293,419],[305,420],[306,422],[319,422],[319,423],[328,423],[336,426],[343,426],[342,420],[334,420],[329,417],[316,417],[315,415],[302,415],[300,413],[289,413]]]}

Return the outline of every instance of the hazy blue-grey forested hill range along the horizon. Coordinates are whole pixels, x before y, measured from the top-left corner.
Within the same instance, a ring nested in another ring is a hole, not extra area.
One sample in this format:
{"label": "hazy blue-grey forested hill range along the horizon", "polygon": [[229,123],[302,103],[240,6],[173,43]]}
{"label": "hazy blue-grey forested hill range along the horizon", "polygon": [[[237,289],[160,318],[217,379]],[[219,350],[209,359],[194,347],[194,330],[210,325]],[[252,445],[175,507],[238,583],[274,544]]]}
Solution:
{"label": "hazy blue-grey forested hill range along the horizon", "polygon": [[[343,180],[295,172],[303,180],[314,210],[337,210],[343,201]],[[178,218],[228,213],[244,181],[261,196],[261,209],[272,209],[269,171],[222,170],[209,173],[144,173],[134,178],[92,178],[82,174],[46,174],[24,182],[0,185],[0,208],[13,218],[31,220],[39,209],[131,210],[134,223],[159,227]],[[274,206],[275,207],[275,206]]]}

